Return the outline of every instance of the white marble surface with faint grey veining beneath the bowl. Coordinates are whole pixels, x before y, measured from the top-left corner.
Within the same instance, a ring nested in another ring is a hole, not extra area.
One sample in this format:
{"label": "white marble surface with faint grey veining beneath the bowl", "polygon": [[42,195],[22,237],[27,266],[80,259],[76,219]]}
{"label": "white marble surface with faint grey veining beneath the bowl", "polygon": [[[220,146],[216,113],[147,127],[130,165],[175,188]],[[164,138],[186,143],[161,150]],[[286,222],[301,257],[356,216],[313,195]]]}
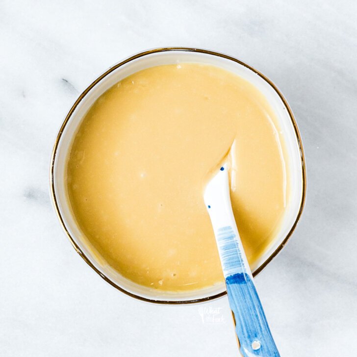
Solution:
{"label": "white marble surface with faint grey veining beneath the bowl", "polygon": [[281,356],[357,356],[356,13],[347,0],[2,0],[0,355],[237,355],[226,298],[121,294],[80,259],[49,198],[52,145],[79,92],[132,53],[189,46],[266,74],[301,130],[304,215],[256,279]]}

